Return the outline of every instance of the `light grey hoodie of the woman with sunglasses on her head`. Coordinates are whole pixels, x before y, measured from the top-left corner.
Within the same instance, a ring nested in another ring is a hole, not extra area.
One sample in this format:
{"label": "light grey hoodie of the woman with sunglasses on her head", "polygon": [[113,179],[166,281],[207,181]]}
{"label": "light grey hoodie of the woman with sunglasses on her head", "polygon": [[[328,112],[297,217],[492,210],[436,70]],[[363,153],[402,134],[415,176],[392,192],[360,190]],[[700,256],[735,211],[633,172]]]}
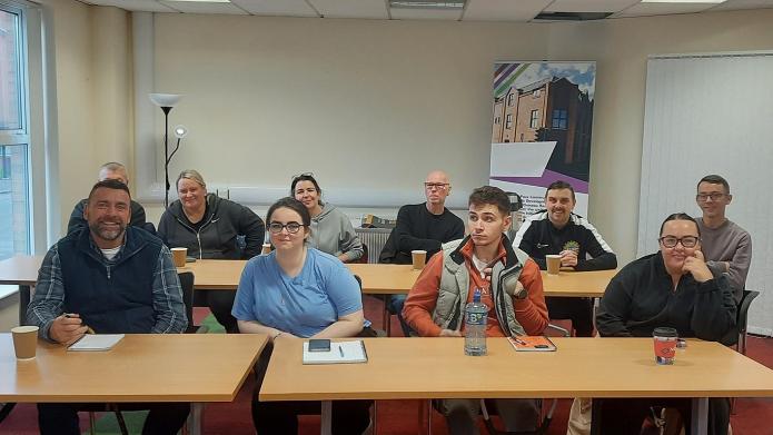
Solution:
{"label": "light grey hoodie of the woman with sunglasses on her head", "polygon": [[363,243],[351,221],[331,204],[324,204],[323,212],[311,218],[309,246],[336,257],[346,254],[349,261],[363,256]]}

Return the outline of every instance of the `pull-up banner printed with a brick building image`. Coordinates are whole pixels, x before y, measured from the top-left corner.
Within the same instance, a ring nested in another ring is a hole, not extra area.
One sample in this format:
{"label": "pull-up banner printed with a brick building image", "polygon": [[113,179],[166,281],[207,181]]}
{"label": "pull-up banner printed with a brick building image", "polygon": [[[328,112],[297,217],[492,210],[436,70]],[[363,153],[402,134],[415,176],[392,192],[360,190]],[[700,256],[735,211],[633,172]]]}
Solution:
{"label": "pull-up banner printed with a brick building image", "polygon": [[521,195],[524,214],[544,208],[545,188],[569,182],[587,216],[595,62],[494,65],[489,182]]}

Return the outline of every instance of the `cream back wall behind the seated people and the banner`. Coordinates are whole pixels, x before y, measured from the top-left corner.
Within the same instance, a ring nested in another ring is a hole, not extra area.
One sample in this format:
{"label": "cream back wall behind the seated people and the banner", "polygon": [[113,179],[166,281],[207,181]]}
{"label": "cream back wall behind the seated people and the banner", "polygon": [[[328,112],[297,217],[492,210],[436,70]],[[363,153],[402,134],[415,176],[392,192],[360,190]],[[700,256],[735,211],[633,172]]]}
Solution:
{"label": "cream back wall behind the seated people and the banner", "polygon": [[[156,14],[155,80],[187,95],[172,123],[191,134],[171,172],[286,188],[293,174],[339,165],[353,186],[377,178],[420,200],[422,177],[442,167],[464,202],[488,174],[493,62],[595,60],[589,217],[626,263],[647,55],[770,48],[772,21],[773,10],[556,24]],[[405,158],[384,165],[379,152]],[[350,187],[318,175],[330,192]]]}

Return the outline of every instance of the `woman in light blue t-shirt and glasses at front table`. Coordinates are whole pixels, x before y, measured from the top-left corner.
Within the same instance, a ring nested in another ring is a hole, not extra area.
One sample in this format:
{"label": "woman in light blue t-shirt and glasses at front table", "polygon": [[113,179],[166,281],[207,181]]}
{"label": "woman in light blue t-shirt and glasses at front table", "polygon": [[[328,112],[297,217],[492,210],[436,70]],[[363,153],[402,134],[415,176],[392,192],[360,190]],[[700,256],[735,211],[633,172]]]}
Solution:
{"label": "woman in light blue t-shirt and glasses at front table", "polygon": [[[313,220],[304,204],[280,199],[268,209],[266,221],[275,250],[247,263],[231,314],[241,333],[270,338],[255,367],[255,428],[258,434],[295,434],[297,416],[318,413],[320,406],[318,402],[258,402],[274,342],[354,337],[363,329],[363,299],[346,266],[307,244]],[[361,434],[369,424],[369,402],[334,402],[333,433]]]}

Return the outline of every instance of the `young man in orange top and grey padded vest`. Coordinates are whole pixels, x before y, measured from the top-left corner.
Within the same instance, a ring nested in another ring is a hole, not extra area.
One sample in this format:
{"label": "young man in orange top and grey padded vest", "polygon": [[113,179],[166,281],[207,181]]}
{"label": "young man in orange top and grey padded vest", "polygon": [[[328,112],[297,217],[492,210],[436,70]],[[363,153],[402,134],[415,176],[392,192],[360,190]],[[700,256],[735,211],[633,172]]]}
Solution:
{"label": "young man in orange top and grey padded vest", "polygon": [[[469,236],[443,245],[429,259],[408,294],[403,316],[423,337],[459,337],[465,333],[465,305],[479,289],[480,303],[488,307],[487,337],[542,334],[547,326],[542,276],[539,267],[526,253],[514,249],[505,235],[512,224],[507,194],[484,186],[473,191],[468,204]],[[536,428],[535,401],[495,402],[506,431]],[[443,399],[436,407],[446,416],[450,434],[477,434],[479,403]]]}

